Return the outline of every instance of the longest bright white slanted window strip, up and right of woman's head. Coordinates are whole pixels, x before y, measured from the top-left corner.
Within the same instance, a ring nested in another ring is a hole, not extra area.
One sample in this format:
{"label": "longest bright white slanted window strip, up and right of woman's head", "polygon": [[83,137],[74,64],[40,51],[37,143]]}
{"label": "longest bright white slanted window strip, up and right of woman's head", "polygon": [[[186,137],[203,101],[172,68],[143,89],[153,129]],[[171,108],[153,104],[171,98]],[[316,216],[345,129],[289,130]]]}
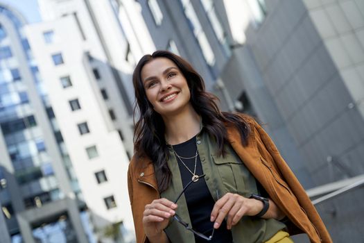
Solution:
{"label": "longest bright white slanted window strip, up and right of woman's head", "polygon": [[195,10],[193,9],[191,0],[180,1],[184,9],[184,15],[186,15],[187,19],[189,19],[189,26],[193,31],[193,35],[195,35],[198,44],[200,45],[202,55],[204,56],[207,65],[213,66],[215,64],[215,55],[211,49],[209,41],[207,40],[205,32],[202,30],[202,26],[198,20]]}

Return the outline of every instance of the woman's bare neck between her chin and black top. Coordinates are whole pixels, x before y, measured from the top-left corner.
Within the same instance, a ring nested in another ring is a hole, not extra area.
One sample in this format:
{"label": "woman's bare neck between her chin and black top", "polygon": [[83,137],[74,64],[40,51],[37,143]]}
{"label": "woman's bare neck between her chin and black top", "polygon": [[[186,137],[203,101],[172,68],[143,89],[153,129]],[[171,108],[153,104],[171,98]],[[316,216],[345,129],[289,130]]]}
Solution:
{"label": "woman's bare neck between her chin and black top", "polygon": [[168,144],[180,144],[200,132],[200,116],[190,107],[186,112],[171,117],[163,117]]}

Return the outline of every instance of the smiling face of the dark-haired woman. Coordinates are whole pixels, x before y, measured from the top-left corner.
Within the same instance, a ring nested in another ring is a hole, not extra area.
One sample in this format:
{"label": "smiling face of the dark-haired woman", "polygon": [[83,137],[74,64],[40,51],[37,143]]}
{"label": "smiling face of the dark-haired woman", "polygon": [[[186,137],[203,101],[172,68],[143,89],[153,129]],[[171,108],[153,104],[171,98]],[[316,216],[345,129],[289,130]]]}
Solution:
{"label": "smiling face of the dark-haired woman", "polygon": [[162,117],[176,115],[190,106],[187,80],[168,58],[155,58],[141,69],[146,97]]}

